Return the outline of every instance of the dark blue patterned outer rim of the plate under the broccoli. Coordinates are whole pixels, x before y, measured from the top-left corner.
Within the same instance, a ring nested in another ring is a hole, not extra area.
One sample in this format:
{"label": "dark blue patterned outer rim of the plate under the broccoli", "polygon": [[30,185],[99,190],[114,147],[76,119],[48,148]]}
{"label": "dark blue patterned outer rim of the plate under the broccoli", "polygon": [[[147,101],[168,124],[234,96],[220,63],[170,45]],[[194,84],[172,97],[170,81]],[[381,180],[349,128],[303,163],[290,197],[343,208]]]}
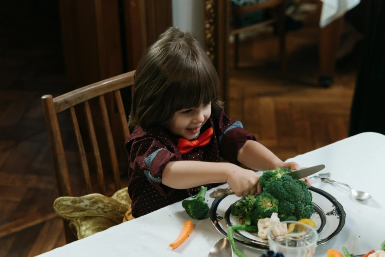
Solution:
{"label": "dark blue patterned outer rim of the plate under the broccoli", "polygon": [[[319,245],[325,244],[326,242],[329,242],[331,239],[333,239],[335,236],[337,236],[342,231],[342,229],[345,226],[345,222],[346,222],[346,212],[344,210],[344,207],[341,205],[341,203],[339,201],[337,201],[337,199],[334,196],[332,196],[331,194],[329,194],[329,193],[327,193],[327,192],[325,192],[325,191],[323,191],[323,190],[321,190],[319,188],[315,188],[315,187],[310,187],[309,190],[325,196],[329,201],[331,201],[334,205],[336,205],[338,207],[339,212],[340,212],[340,215],[339,215],[340,219],[339,219],[339,223],[338,223],[337,229],[335,231],[333,231],[333,233],[331,233],[325,239],[323,239],[321,241],[318,241],[317,242],[317,246],[319,246]],[[218,230],[218,232],[220,232],[222,235],[227,237],[227,233],[219,225],[219,222],[217,222],[217,216],[216,216],[216,210],[218,208],[218,205],[226,196],[224,196],[224,197],[222,197],[220,199],[214,199],[214,201],[211,204],[211,208],[210,208],[209,214],[210,214],[210,221],[211,221],[212,225],[214,225],[214,227]],[[224,217],[223,217],[223,219],[224,219]],[[247,241],[239,240],[239,239],[237,239],[235,237],[234,237],[234,241],[237,242],[237,243],[240,243],[242,245],[245,245],[247,247],[254,248],[254,249],[259,249],[259,250],[266,250],[266,249],[268,249],[268,246],[267,247],[256,246],[253,243],[249,243]]]}

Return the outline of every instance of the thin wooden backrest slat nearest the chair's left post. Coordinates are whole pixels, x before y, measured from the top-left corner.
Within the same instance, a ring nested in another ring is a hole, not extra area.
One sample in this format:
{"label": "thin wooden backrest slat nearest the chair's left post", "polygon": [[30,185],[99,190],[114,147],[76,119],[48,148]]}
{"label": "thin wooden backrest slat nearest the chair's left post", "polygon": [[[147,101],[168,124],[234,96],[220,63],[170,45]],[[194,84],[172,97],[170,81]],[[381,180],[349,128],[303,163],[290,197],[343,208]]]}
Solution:
{"label": "thin wooden backrest slat nearest the chair's left post", "polygon": [[89,193],[92,193],[92,186],[91,186],[91,179],[89,177],[89,168],[88,168],[88,162],[86,157],[86,151],[84,150],[82,135],[80,134],[79,123],[78,123],[78,119],[76,118],[75,108],[72,106],[69,108],[69,110],[71,113],[72,126],[75,132],[76,146],[78,148],[80,165],[83,171],[84,180],[86,181],[86,192],[87,194],[89,194]]}

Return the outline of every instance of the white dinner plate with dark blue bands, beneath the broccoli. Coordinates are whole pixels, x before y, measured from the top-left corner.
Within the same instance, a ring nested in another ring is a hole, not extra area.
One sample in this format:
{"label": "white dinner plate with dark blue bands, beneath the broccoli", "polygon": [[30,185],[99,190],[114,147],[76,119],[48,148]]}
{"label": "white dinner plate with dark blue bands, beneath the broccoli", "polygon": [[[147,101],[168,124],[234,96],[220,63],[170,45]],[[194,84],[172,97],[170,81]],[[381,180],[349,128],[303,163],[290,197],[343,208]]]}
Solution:
{"label": "white dinner plate with dark blue bands, beneath the broccoli", "polygon": [[[330,194],[323,190],[310,187],[313,194],[315,213],[311,219],[316,224],[319,233],[317,245],[324,244],[334,238],[344,227],[346,213],[342,205]],[[239,224],[237,218],[233,217],[231,207],[240,200],[236,195],[228,195],[221,199],[215,199],[210,208],[210,218],[215,228],[227,237],[230,225]],[[259,250],[268,249],[267,240],[261,239],[256,233],[247,231],[234,231],[234,240],[245,246]]]}

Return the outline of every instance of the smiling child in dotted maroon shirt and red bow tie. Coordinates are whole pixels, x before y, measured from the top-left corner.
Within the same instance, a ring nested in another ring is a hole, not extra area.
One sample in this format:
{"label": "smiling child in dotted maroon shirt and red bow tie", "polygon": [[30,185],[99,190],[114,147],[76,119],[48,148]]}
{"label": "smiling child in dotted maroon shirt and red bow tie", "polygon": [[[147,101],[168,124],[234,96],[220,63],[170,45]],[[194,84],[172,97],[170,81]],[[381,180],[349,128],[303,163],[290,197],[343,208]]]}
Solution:
{"label": "smiling child in dotted maroon shirt and red bow tie", "polygon": [[170,28],[161,34],[142,56],[134,81],[133,132],[125,142],[134,218],[197,194],[202,185],[228,183],[237,196],[261,192],[259,176],[240,164],[300,169],[226,116],[215,68],[190,33]]}

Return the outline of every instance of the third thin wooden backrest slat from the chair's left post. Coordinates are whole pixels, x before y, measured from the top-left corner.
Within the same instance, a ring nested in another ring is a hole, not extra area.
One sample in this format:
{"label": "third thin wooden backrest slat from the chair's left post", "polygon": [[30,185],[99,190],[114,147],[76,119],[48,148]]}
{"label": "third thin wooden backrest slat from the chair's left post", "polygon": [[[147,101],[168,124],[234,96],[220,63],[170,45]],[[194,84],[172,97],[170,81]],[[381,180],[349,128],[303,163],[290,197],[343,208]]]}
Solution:
{"label": "third thin wooden backrest slat from the chair's left post", "polygon": [[110,120],[108,118],[106,101],[104,100],[104,96],[99,96],[99,105],[100,105],[100,109],[102,111],[104,130],[106,131],[108,152],[110,153],[112,172],[114,174],[115,191],[118,191],[119,189],[121,189],[119,165],[118,165],[118,159],[117,159],[117,154],[115,151],[114,139],[113,139],[112,132],[111,132]]}

